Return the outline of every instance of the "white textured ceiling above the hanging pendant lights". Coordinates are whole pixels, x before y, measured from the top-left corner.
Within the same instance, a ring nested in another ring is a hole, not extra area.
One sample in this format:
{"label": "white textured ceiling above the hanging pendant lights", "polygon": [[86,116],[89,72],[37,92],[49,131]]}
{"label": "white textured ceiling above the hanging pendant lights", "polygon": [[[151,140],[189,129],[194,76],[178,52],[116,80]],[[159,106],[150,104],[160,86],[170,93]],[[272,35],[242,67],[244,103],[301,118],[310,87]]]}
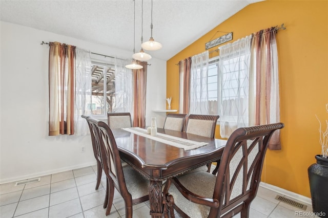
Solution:
{"label": "white textured ceiling above the hanging pendant lights", "polygon": [[[262,0],[154,0],[153,37],[168,60],[245,6]],[[141,0],[135,1],[135,50],[141,44]],[[131,0],[0,1],[1,20],[133,52]],[[150,38],[151,1],[143,3],[144,41]],[[45,39],[47,40],[47,39]],[[91,49],[92,48],[86,48]]]}

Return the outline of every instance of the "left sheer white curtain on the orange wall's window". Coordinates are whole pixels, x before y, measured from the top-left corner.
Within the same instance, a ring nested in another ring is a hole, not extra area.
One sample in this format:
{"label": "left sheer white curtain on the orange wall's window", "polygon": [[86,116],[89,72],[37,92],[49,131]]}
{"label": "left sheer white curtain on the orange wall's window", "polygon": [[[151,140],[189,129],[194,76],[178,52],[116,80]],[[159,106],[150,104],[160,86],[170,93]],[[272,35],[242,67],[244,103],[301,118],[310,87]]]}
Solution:
{"label": "left sheer white curtain on the orange wall's window", "polygon": [[189,114],[209,114],[208,70],[208,51],[191,57]]}

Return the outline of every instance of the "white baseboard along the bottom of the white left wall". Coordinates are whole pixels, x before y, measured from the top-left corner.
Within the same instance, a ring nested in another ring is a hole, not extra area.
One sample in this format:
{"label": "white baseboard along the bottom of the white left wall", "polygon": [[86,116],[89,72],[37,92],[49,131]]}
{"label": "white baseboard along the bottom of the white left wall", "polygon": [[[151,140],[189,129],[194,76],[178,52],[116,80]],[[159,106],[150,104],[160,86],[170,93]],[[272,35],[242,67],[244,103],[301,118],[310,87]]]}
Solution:
{"label": "white baseboard along the bottom of the white left wall", "polygon": [[10,182],[17,182],[17,181],[20,181],[20,180],[27,180],[27,179],[31,179],[31,178],[35,178],[35,177],[43,177],[43,176],[47,176],[47,175],[50,175],[50,174],[53,174],[53,173],[65,172],[65,171],[68,171],[68,170],[93,166],[93,165],[96,165],[96,164],[97,164],[97,162],[92,161],[92,162],[73,165],[73,166],[69,166],[69,167],[62,167],[62,168],[58,168],[58,169],[52,169],[52,170],[47,170],[47,171],[37,172],[37,173],[31,173],[31,174],[28,174],[28,175],[23,175],[23,176],[18,176],[18,177],[1,179],[0,184],[10,183]]}

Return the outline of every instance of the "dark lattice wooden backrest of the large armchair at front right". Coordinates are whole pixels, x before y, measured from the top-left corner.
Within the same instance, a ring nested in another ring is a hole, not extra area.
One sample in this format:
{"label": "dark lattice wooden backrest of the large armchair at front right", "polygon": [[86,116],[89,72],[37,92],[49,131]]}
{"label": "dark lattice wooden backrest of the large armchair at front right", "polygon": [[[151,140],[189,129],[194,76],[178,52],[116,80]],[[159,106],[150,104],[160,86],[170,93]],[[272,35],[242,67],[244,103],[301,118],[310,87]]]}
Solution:
{"label": "dark lattice wooden backrest of the large armchair at front right", "polygon": [[213,193],[220,206],[211,208],[209,217],[216,217],[218,212],[231,217],[229,214],[236,214],[250,205],[261,180],[270,138],[275,130],[283,127],[283,123],[274,123],[242,127],[232,133],[223,150]]}

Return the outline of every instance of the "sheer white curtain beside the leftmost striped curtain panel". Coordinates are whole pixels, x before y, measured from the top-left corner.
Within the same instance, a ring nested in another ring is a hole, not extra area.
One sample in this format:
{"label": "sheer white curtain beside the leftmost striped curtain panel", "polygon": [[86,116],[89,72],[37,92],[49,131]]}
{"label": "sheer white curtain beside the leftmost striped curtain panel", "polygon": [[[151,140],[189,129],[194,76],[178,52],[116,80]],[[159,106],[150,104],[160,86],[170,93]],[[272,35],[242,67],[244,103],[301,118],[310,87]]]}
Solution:
{"label": "sheer white curtain beside the leftmost striped curtain panel", "polygon": [[76,49],[74,128],[77,136],[88,134],[89,127],[81,115],[86,114],[87,102],[91,102],[90,51]]}

